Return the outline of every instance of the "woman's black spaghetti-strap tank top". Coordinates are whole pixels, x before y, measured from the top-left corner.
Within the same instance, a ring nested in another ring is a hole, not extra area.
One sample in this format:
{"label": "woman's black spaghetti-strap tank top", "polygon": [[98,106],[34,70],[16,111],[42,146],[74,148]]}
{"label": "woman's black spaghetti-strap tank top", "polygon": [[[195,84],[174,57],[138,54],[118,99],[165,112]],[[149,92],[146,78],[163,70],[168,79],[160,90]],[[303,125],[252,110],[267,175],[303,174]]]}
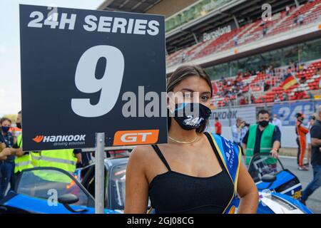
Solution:
{"label": "woman's black spaghetti-strap tank top", "polygon": [[152,145],[168,168],[168,172],[154,177],[149,185],[148,195],[156,213],[222,214],[230,203],[234,193],[233,181],[212,138],[208,133],[205,135],[222,167],[222,172],[212,177],[193,177],[171,170],[159,147]]}

